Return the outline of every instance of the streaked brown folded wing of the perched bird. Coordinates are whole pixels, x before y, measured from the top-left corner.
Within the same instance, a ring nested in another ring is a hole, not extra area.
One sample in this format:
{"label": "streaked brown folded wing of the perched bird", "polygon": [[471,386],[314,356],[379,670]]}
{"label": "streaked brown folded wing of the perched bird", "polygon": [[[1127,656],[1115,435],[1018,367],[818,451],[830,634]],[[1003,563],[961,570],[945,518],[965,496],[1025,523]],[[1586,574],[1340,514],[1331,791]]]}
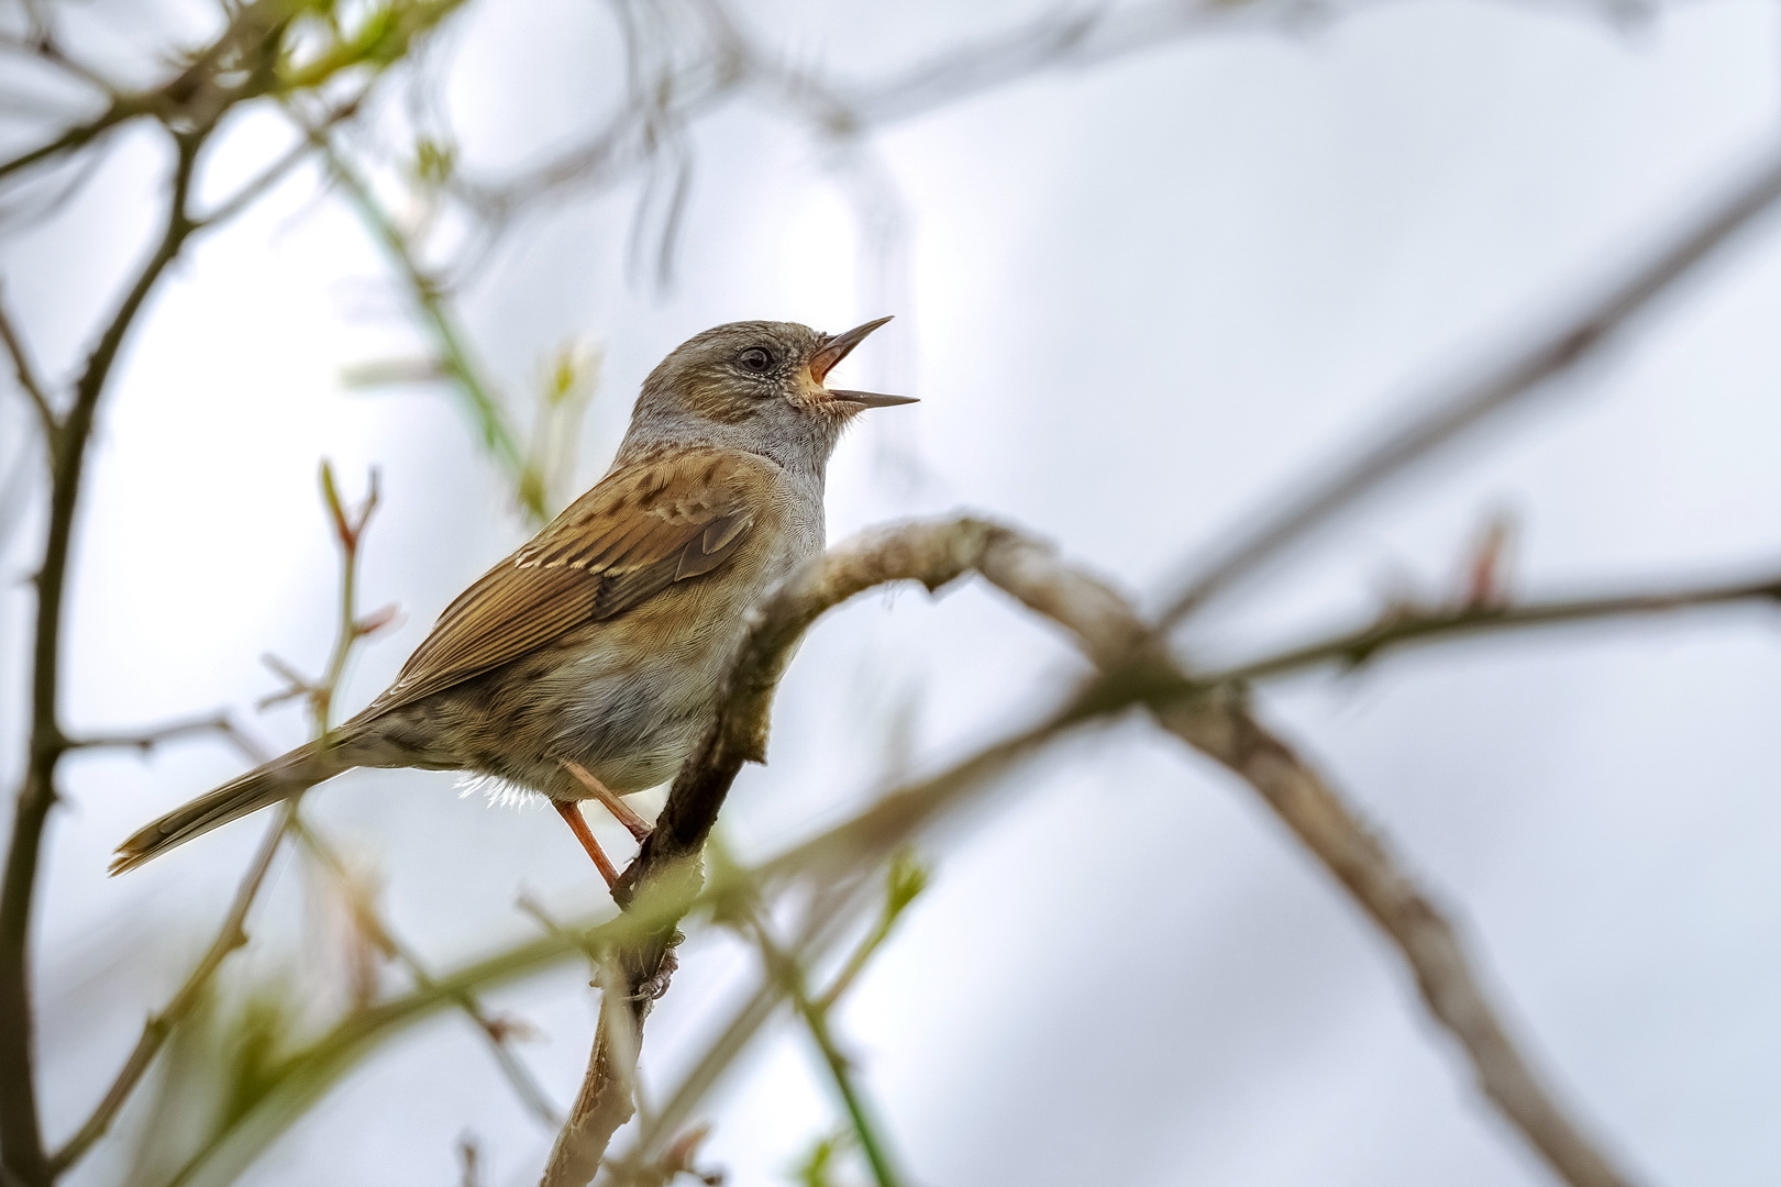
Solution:
{"label": "streaked brown folded wing of the perched bird", "polygon": [[[750,459],[752,461],[752,459]],[[711,573],[753,516],[753,464],[712,452],[622,470],[445,607],[365,715],[492,671],[590,621]]]}

